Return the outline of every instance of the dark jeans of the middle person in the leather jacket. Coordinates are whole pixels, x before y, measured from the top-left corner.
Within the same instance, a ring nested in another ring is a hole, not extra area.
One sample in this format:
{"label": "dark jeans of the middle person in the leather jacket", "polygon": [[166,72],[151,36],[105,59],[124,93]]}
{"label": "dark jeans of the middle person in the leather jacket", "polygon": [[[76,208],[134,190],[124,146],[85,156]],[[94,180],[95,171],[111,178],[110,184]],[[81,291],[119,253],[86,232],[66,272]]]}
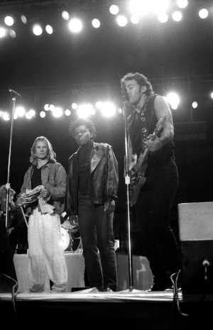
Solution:
{"label": "dark jeans of the middle person in the leather jacket", "polygon": [[116,254],[114,251],[113,216],[104,213],[104,205],[93,204],[89,194],[80,195],[78,221],[84,263],[89,285],[100,290],[116,291]]}

